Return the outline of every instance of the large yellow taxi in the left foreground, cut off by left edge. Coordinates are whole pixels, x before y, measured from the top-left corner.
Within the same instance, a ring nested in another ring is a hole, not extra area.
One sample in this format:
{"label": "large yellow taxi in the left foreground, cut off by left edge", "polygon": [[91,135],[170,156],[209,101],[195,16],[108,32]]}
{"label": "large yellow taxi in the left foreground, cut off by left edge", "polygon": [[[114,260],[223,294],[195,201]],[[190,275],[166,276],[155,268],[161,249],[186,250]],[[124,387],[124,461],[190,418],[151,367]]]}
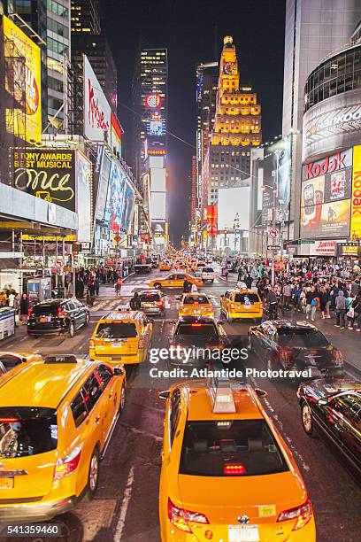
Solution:
{"label": "large yellow taxi in the left foreground, cut off by left edge", "polygon": [[125,405],[124,368],[71,354],[0,381],[0,522],[43,521],[96,492]]}

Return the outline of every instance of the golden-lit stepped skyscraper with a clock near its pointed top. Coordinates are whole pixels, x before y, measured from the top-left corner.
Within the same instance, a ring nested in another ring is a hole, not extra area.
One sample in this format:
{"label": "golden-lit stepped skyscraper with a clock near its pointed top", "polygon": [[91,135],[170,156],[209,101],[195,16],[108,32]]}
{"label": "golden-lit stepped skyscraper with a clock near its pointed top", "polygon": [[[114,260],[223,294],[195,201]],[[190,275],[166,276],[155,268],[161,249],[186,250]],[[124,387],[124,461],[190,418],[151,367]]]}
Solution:
{"label": "golden-lit stepped skyscraper with a clock near its pointed top", "polygon": [[250,149],[262,143],[261,105],[240,85],[233,38],[226,36],[219,63],[216,113],[204,157],[201,206],[217,205],[219,187],[242,186],[250,175]]}

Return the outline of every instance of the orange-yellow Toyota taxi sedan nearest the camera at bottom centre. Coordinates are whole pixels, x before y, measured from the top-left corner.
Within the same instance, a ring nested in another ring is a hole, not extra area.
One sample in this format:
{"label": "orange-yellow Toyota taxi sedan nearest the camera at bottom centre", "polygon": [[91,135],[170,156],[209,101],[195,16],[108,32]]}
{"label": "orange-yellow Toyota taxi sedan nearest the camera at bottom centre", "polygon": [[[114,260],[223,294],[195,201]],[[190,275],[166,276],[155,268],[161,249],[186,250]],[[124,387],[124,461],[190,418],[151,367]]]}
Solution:
{"label": "orange-yellow Toyota taxi sedan nearest the camera at bottom centre", "polygon": [[300,471],[254,391],[210,379],[166,399],[159,520],[162,542],[315,542]]}

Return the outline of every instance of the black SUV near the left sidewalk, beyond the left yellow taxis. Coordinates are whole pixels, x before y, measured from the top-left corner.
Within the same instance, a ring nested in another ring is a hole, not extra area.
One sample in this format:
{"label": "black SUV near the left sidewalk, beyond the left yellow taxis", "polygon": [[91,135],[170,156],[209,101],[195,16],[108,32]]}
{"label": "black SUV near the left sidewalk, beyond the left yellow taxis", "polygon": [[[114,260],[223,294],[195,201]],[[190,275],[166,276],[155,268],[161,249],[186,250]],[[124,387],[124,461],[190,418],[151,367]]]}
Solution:
{"label": "black SUV near the left sidewalk, beyond the left yellow taxis", "polygon": [[88,306],[78,299],[47,299],[30,309],[27,335],[68,333],[73,337],[77,329],[88,326],[89,320]]}

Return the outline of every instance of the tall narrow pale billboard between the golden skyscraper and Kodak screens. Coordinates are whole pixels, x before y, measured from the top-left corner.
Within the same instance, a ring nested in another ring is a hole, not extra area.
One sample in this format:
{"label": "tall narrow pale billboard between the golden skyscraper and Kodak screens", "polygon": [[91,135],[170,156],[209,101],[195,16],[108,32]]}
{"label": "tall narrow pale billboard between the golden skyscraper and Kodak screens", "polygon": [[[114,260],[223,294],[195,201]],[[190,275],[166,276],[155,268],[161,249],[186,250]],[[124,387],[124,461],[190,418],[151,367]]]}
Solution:
{"label": "tall narrow pale billboard between the golden skyscraper and Kodak screens", "polygon": [[[270,220],[274,207],[273,189],[276,190],[280,216],[277,220],[288,221],[291,195],[292,136],[285,136],[265,149],[263,168],[262,222]],[[277,171],[278,170],[278,171]]]}

